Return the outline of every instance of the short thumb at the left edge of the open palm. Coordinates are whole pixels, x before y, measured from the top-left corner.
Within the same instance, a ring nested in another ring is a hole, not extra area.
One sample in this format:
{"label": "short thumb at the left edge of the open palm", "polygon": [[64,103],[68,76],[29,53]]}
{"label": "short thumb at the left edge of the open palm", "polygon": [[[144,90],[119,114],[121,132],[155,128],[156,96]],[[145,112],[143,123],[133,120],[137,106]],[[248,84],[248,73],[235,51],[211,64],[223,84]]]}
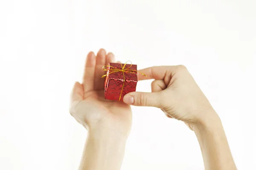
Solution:
{"label": "short thumb at the left edge of the open palm", "polygon": [[70,95],[70,114],[72,115],[75,110],[77,104],[83,100],[84,95],[84,89],[83,85],[81,85],[79,82],[76,82],[73,86],[73,90]]}

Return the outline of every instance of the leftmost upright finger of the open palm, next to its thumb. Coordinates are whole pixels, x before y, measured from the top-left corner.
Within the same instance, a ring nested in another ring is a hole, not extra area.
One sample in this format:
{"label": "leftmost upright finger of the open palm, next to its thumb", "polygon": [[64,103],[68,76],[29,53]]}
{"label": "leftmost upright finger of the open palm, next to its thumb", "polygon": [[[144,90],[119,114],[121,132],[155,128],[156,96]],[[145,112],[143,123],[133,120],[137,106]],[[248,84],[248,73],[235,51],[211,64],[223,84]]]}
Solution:
{"label": "leftmost upright finger of the open palm, next to its thumb", "polygon": [[84,68],[84,78],[83,78],[84,93],[94,89],[95,64],[96,64],[95,55],[93,52],[89,52],[86,58],[86,63]]}

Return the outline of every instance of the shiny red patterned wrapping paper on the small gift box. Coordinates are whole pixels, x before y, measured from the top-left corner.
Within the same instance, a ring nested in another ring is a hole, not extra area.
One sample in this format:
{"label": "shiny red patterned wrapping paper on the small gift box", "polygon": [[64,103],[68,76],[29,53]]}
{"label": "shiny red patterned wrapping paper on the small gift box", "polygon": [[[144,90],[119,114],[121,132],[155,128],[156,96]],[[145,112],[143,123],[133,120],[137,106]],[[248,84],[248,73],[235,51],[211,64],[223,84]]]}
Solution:
{"label": "shiny red patterned wrapping paper on the small gift box", "polygon": [[[120,64],[120,63],[109,63],[110,66],[115,67],[116,69],[122,69],[122,66],[125,66],[123,69],[136,70],[137,65],[134,64]],[[117,100],[122,101],[125,94],[128,92],[136,91],[137,85],[137,72],[129,71],[129,72],[111,72],[111,67],[108,66],[108,72],[105,80],[105,98],[109,100]],[[124,81],[125,76],[125,81]],[[122,92],[122,93],[121,93]],[[121,95],[121,96],[120,96]]]}

